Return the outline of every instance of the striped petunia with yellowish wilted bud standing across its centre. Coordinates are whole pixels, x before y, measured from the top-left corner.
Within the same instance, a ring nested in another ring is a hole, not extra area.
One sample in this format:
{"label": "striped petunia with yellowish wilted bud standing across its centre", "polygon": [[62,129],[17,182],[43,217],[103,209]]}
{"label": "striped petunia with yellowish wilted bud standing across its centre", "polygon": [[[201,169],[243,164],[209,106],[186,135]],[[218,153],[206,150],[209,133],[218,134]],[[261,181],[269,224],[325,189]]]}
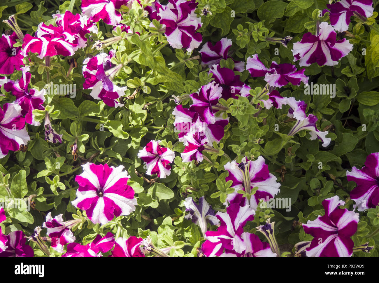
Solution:
{"label": "striped petunia with yellowish wilted bud standing across its centre", "polygon": [[[232,180],[231,187],[235,189],[235,192],[227,196],[226,200],[230,204],[248,204],[252,209],[256,209],[261,198],[265,200],[267,197],[273,198],[280,191],[280,184],[276,181],[276,176],[268,171],[268,165],[265,164],[262,156],[258,156],[255,161],[244,157],[241,163],[233,160],[225,164],[224,168],[229,172],[226,181]],[[258,189],[250,200],[242,198],[242,194],[238,193],[238,190],[246,192],[246,188],[251,191],[254,187],[258,187]]]}

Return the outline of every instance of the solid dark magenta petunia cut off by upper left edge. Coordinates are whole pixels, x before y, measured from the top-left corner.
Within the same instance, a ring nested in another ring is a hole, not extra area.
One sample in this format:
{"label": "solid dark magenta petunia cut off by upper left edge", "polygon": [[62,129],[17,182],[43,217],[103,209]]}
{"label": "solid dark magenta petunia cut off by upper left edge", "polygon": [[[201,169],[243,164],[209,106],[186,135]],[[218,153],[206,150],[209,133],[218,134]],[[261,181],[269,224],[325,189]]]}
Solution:
{"label": "solid dark magenta petunia cut off by upper left edge", "polygon": [[13,74],[14,69],[20,70],[24,65],[21,55],[21,47],[13,47],[16,43],[17,35],[2,35],[0,38],[0,74]]}

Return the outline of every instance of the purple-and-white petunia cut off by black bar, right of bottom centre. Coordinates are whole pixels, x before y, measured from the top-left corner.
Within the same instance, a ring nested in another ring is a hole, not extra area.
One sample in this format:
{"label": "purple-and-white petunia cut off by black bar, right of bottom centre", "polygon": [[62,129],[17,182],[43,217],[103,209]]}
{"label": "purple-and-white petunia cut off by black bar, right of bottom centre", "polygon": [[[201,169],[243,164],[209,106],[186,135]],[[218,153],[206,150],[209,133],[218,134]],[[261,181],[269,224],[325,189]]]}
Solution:
{"label": "purple-and-white petunia cut off by black bar, right of bottom centre", "polygon": [[260,258],[260,257],[276,257],[276,253],[273,253],[268,242],[262,242],[255,234],[244,232],[241,238],[246,243],[246,250],[243,253],[233,253],[227,251],[220,257],[248,257],[248,258]]}

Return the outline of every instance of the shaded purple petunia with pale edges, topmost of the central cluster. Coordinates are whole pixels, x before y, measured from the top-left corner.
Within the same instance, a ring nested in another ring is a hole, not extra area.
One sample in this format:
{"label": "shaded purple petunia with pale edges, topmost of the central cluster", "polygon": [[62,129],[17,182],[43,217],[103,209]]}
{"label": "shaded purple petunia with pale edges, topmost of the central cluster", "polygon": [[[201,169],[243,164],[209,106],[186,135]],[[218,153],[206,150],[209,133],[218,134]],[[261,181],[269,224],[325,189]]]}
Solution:
{"label": "shaded purple petunia with pale edges, topmost of the central cluster", "polygon": [[[232,46],[232,40],[229,38],[221,38],[220,41],[212,45],[210,41],[204,44],[199,53],[201,54],[201,61],[207,64],[209,68],[213,65],[220,63],[222,59],[227,60],[231,58],[228,55],[230,46]],[[245,63],[234,60],[234,69],[238,72],[243,72],[245,70]]]}

